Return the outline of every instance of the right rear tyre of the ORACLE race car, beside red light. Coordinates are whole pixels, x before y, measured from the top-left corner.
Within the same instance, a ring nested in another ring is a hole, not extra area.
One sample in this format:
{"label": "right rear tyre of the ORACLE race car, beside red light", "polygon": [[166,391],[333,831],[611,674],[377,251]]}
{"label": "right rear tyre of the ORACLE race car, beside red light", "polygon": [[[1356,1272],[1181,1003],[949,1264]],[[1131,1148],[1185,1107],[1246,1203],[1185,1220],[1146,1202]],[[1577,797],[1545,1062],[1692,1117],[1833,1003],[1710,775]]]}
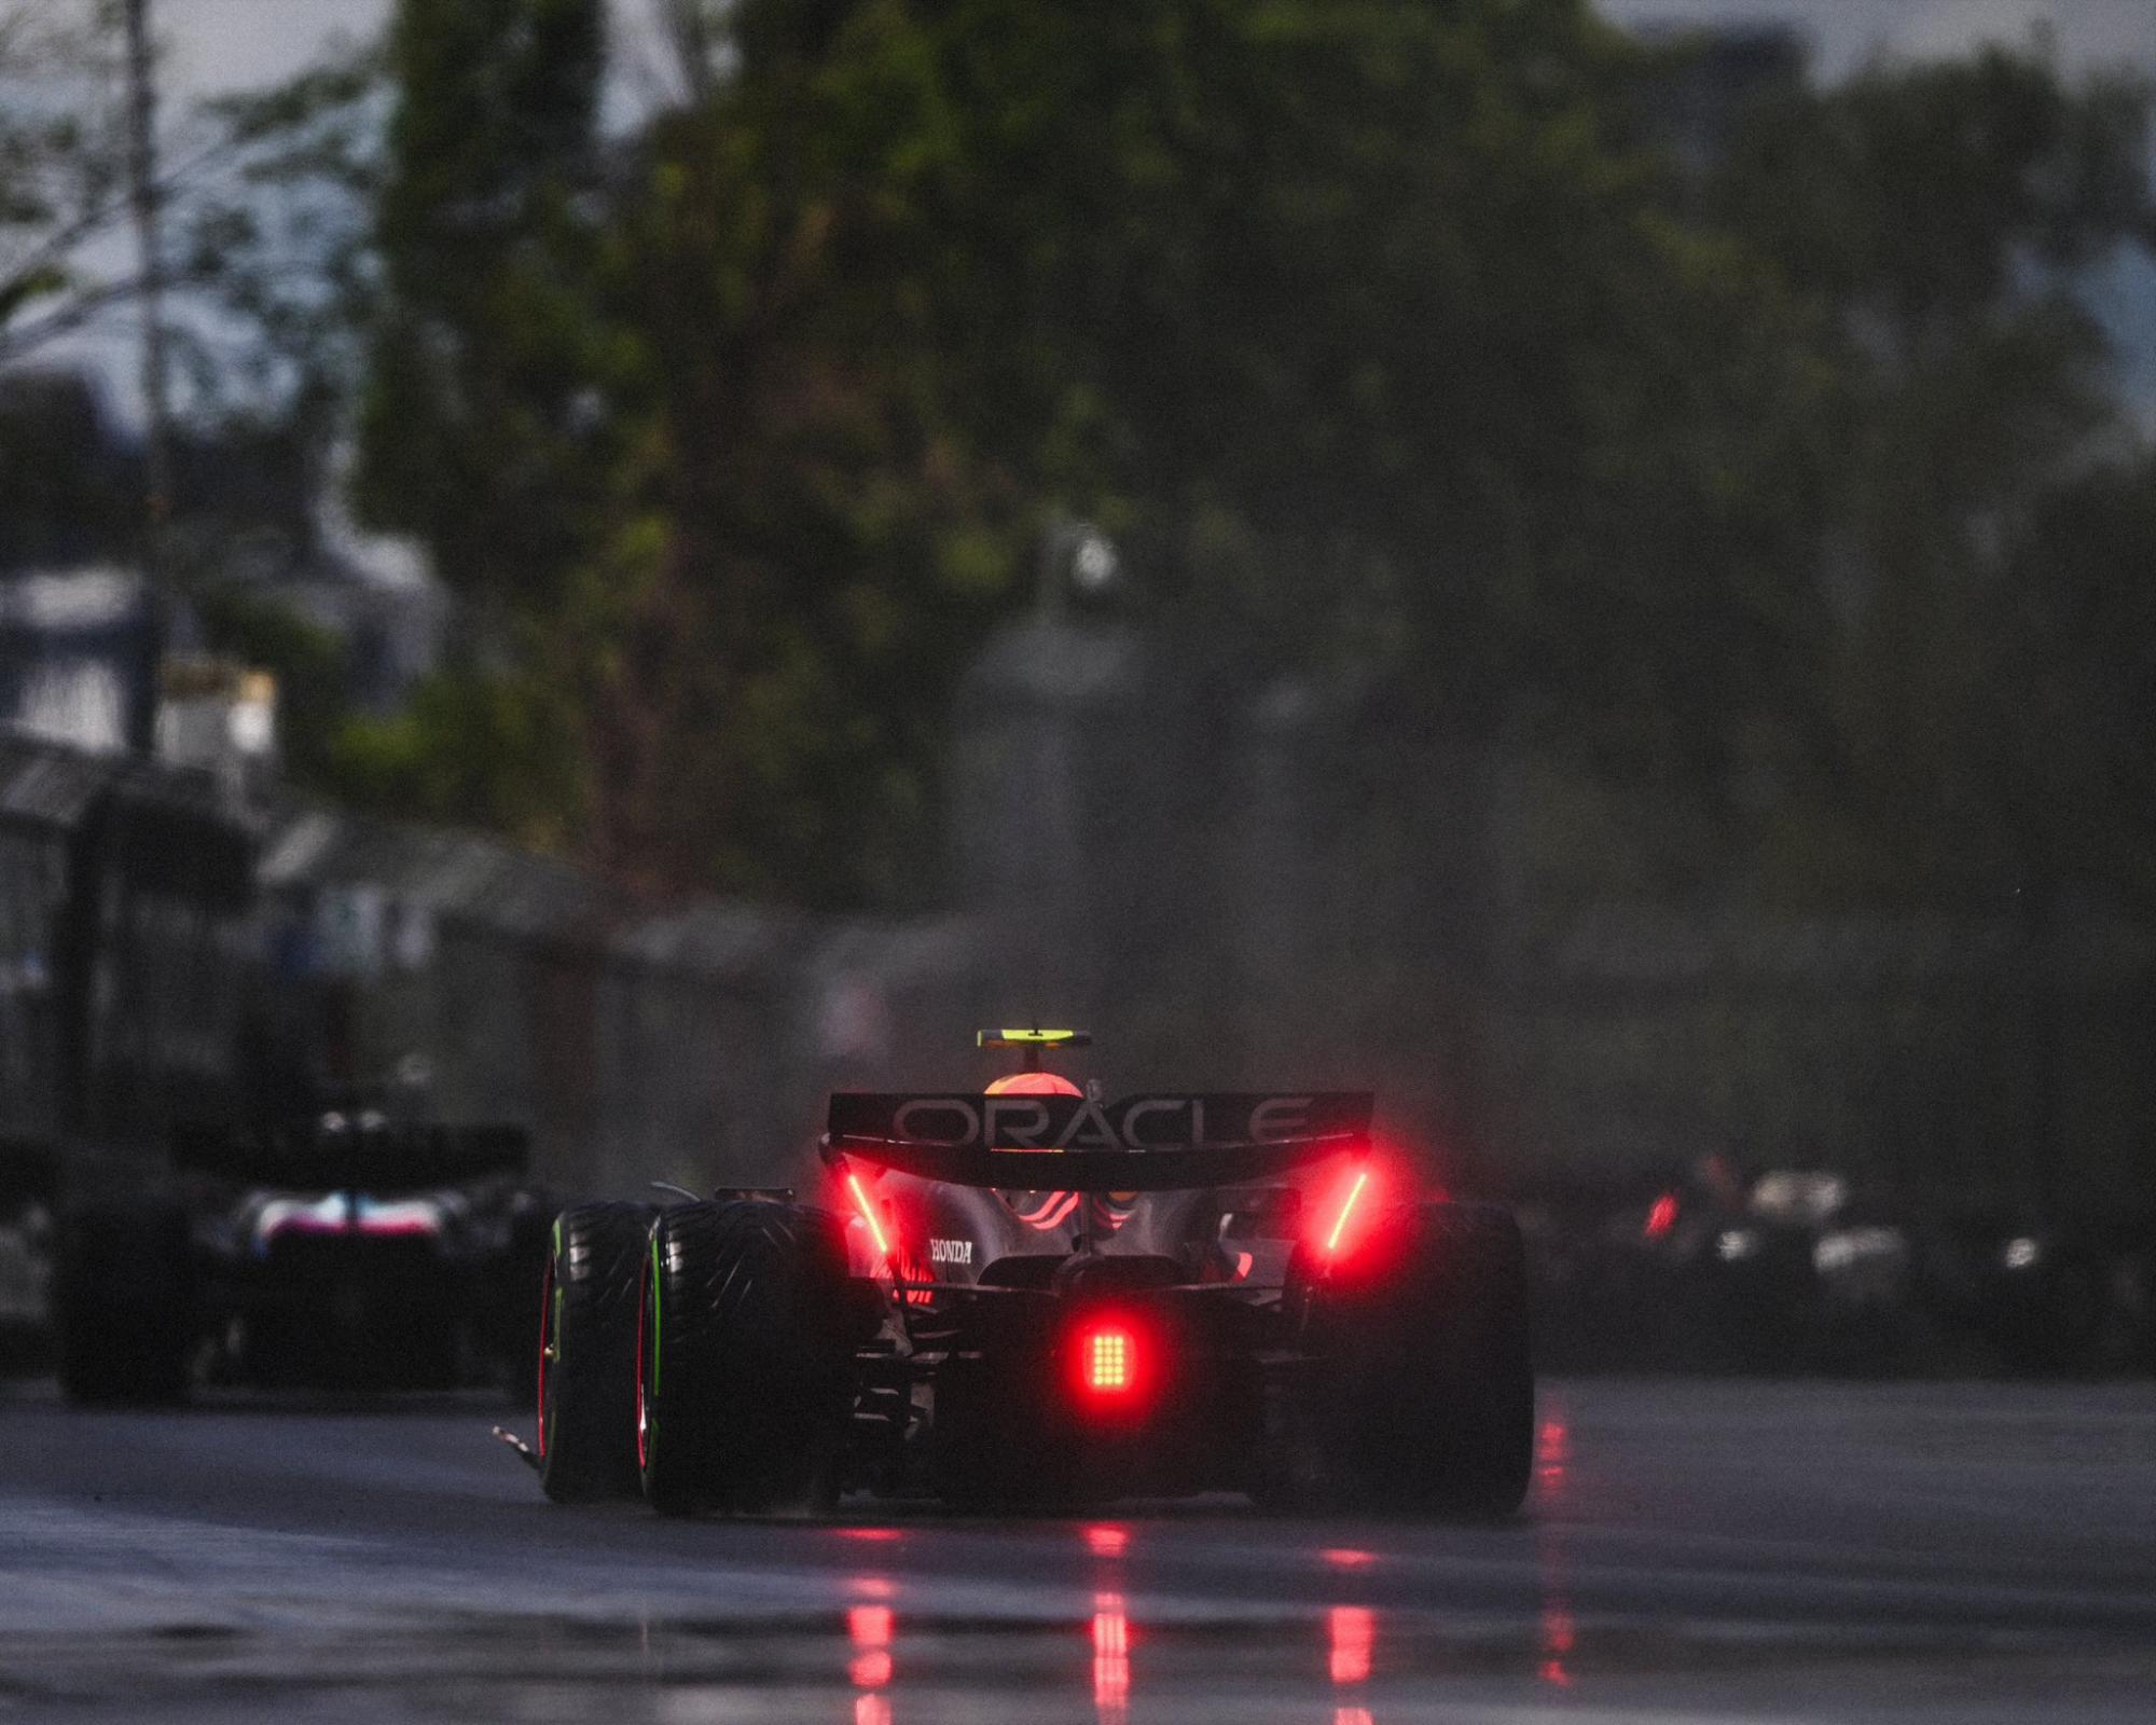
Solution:
{"label": "right rear tyre of the ORACLE race car, beside red light", "polygon": [[1520,1507],[1535,1376],[1511,1212],[1399,1205],[1330,1276],[1298,1257],[1287,1302],[1315,1356],[1298,1423],[1324,1496],[1464,1516]]}

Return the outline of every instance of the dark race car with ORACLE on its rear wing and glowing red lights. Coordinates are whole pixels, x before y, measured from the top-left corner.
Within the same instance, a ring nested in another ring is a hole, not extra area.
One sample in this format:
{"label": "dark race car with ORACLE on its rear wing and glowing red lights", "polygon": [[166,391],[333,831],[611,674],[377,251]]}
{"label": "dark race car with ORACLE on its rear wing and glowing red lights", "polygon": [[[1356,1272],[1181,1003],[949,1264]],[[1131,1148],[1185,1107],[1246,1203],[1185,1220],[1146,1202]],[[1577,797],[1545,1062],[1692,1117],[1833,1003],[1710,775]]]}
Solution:
{"label": "dark race car with ORACLE on its rear wing and glowing red lights", "polygon": [[545,1492],[1514,1512],[1535,1391],[1511,1214],[1382,1201],[1369,1095],[1110,1104],[1039,1070],[1082,1041],[983,1031],[1026,1054],[987,1095],[832,1095],[828,1208],[565,1212]]}

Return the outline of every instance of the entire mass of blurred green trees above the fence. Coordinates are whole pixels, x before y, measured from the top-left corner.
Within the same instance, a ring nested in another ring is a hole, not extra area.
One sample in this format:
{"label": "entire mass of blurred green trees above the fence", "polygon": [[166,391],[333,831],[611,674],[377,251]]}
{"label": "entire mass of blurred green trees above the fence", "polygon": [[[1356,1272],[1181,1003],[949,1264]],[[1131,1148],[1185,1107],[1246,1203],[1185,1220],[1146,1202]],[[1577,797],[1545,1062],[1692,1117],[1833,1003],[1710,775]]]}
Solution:
{"label": "entire mass of blurred green trees above the fence", "polygon": [[2156,546],[2083,280],[2156,242],[2147,91],[1880,65],[1701,157],[1583,0],[660,15],[612,129],[599,0],[399,0],[226,112],[289,220],[198,257],[464,602],[349,794],[927,899],[953,684],[1080,515],[1253,677],[1746,811],[1761,891],[2137,878],[2089,806]]}

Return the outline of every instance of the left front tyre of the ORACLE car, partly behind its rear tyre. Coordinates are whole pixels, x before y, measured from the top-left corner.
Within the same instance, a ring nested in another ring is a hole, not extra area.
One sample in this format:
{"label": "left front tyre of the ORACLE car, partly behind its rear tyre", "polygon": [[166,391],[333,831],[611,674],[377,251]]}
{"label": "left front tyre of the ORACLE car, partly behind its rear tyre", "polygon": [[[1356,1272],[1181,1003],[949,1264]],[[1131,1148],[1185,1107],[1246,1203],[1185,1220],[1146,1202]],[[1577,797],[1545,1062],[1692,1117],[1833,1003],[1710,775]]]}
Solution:
{"label": "left front tyre of the ORACLE car, partly behind its rear tyre", "polygon": [[636,1496],[636,1296],[651,1210],[561,1212],[539,1294],[539,1484],[556,1503]]}

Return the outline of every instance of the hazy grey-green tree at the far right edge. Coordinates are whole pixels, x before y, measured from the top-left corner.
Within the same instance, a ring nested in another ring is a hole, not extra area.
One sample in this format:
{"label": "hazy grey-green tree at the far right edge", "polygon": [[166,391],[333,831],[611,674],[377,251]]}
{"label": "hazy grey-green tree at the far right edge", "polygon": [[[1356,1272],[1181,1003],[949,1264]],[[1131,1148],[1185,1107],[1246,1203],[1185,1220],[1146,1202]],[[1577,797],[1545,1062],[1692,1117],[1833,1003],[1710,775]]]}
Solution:
{"label": "hazy grey-green tree at the far right edge", "polygon": [[[2137,82],[2074,88],[1986,50],[1785,93],[1718,168],[1718,218],[1837,332],[1833,746],[1785,834],[1809,891],[1996,906],[2053,867],[2042,828],[2076,768],[2029,746],[2044,703],[2027,696],[2035,677],[2057,699],[2096,643],[2037,615],[2059,580],[2124,595],[2156,561],[2156,541],[2128,548],[2113,468],[2134,433],[2085,302],[2091,263],[2156,246],[2147,119]],[[2074,541],[2068,498],[2113,498],[2111,526]],[[2042,571],[2055,550],[2059,574]],[[2111,819],[2156,837],[2132,804]]]}

